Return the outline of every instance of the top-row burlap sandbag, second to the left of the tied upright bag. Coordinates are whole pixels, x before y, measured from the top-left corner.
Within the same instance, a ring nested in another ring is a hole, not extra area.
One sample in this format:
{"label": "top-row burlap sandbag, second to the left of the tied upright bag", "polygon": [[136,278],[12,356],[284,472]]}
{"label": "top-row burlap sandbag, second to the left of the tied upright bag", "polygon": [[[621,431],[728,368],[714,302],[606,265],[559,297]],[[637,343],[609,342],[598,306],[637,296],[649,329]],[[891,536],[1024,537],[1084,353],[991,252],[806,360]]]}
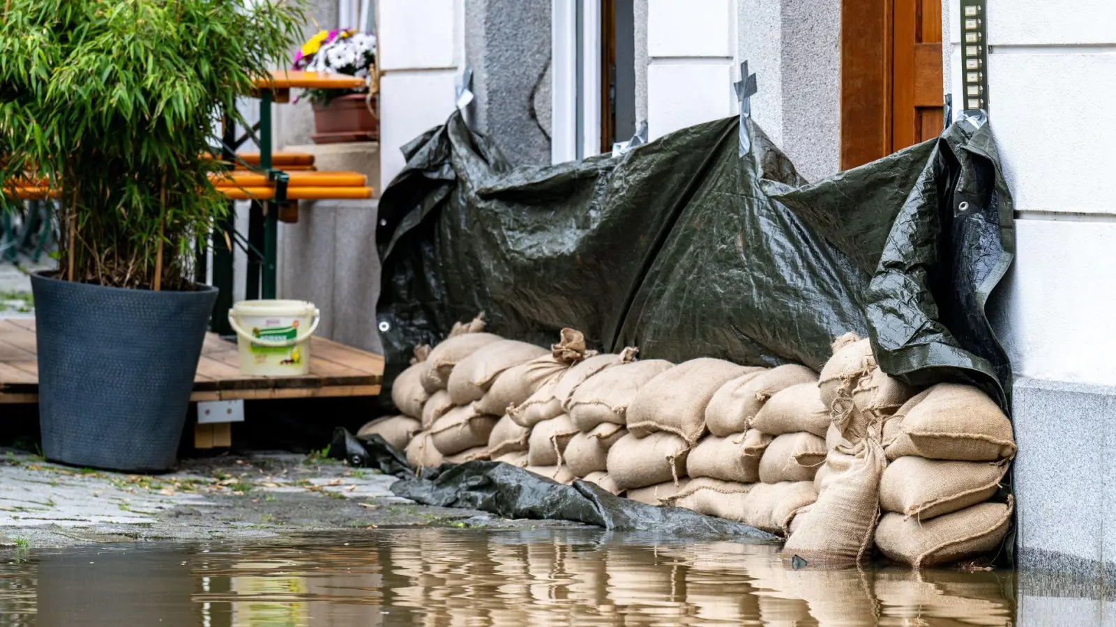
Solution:
{"label": "top-row burlap sandbag, second to the left of the tied upright bag", "polygon": [[798,364],[787,364],[770,370],[752,369],[716,390],[718,394],[705,408],[706,422],[712,421],[709,431],[713,435],[747,431],[751,428],[752,418],[768,398],[792,385],[817,380],[817,373]]}

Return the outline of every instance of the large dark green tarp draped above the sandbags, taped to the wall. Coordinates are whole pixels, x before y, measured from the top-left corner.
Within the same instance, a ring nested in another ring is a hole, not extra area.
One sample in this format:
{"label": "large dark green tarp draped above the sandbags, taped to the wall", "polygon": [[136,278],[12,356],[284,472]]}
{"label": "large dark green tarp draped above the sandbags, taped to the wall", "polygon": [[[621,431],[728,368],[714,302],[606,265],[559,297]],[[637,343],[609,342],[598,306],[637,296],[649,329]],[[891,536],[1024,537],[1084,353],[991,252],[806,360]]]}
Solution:
{"label": "large dark green tarp draped above the sandbags, taped to the wall", "polygon": [[1009,409],[984,303],[1014,235],[989,126],[807,183],[750,118],[739,156],[739,124],[547,167],[511,167],[458,113],[405,146],[379,202],[385,383],[484,311],[506,337],[547,346],[571,327],[675,363],[819,369],[852,330],[884,372],[974,384]]}

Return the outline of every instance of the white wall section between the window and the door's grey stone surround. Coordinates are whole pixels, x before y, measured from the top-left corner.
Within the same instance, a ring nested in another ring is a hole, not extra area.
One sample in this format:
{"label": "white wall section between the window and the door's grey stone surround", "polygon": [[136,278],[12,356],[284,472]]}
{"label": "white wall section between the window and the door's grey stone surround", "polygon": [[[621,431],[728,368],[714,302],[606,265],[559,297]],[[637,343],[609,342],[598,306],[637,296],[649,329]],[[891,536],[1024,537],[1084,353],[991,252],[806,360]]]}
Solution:
{"label": "white wall section between the window and the door's grey stone surround", "polygon": [[734,115],[737,1],[647,0],[647,131]]}

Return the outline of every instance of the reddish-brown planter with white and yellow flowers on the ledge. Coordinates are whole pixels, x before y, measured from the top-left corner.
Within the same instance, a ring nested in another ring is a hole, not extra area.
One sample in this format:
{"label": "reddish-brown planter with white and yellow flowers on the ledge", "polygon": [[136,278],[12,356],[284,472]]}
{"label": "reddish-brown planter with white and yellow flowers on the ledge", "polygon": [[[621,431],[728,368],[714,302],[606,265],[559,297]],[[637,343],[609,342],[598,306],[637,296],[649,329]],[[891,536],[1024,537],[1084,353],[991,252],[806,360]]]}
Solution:
{"label": "reddish-brown planter with white and yellow flowers on the ledge", "polygon": [[308,89],[314,105],[315,144],[372,142],[379,138],[376,36],[355,30],[323,30],[295,54],[295,69],[367,78],[358,89]]}

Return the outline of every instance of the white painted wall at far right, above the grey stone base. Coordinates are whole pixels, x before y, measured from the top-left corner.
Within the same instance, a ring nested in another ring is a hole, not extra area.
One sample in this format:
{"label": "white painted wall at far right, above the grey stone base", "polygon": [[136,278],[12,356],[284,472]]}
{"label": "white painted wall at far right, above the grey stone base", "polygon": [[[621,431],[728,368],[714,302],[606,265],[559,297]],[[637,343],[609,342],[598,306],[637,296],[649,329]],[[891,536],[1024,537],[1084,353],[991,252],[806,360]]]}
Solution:
{"label": "white painted wall at far right, above the grey stone base", "polygon": [[989,0],[988,12],[989,118],[1018,234],[994,324],[1018,375],[1116,385],[1116,2]]}

